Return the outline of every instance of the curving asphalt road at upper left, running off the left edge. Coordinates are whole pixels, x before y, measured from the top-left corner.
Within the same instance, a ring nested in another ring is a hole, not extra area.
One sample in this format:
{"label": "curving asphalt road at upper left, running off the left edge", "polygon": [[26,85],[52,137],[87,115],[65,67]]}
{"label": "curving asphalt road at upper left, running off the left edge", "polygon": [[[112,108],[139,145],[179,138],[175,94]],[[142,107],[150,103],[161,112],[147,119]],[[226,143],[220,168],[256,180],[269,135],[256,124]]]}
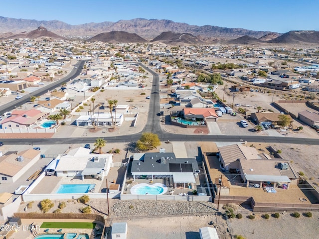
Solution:
{"label": "curving asphalt road at upper left, running off the left edge", "polygon": [[56,82],[53,82],[51,84],[48,84],[47,86],[43,86],[39,90],[23,95],[23,98],[20,100],[14,100],[14,101],[6,103],[3,106],[0,106],[0,115],[2,115],[4,112],[12,111],[15,108],[25,104],[26,102],[29,102],[31,96],[41,96],[44,93],[48,91],[52,91],[55,88],[59,87],[62,83],[68,82],[70,79],[80,75],[84,64],[85,64],[85,61],[79,61],[75,64],[77,68],[73,68],[72,71],[67,76],[63,77],[62,79]]}

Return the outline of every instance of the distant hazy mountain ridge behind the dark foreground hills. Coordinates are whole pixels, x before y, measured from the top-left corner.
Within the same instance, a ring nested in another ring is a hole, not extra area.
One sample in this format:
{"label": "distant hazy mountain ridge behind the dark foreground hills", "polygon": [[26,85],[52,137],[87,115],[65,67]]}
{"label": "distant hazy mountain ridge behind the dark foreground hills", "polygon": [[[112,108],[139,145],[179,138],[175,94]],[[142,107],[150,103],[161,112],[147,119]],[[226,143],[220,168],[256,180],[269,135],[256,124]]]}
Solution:
{"label": "distant hazy mountain ridge behind the dark foreground hills", "polygon": [[117,22],[105,21],[100,23],[91,22],[80,25],[70,25],[58,20],[37,21],[0,16],[1,33],[13,32],[13,34],[17,34],[22,31],[31,31],[38,26],[43,26],[50,31],[64,36],[95,36],[103,32],[126,31],[136,33],[149,40],[166,31],[185,32],[194,36],[212,37],[214,39],[234,39],[244,35],[259,38],[270,33],[269,31],[252,31],[243,28],[227,28],[211,25],[196,26],[164,19],[136,18],[132,20],[119,20]]}

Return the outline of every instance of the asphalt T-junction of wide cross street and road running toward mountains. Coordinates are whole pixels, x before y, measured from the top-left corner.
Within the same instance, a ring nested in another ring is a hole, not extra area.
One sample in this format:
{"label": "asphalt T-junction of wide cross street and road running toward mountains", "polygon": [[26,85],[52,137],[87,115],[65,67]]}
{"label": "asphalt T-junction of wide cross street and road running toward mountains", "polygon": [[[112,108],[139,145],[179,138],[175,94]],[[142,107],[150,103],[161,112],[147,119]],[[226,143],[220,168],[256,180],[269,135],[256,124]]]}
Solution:
{"label": "asphalt T-junction of wide cross street and road running toward mountains", "polygon": [[[84,64],[82,62],[81,64]],[[140,64],[153,75],[153,86],[150,100],[150,111],[148,121],[143,132],[153,132],[159,135],[161,141],[212,141],[212,142],[264,142],[264,143],[294,143],[294,144],[309,144],[319,145],[319,139],[314,138],[295,138],[295,137],[276,137],[276,136],[259,136],[259,135],[185,135],[172,134],[165,132],[160,127],[160,117],[157,114],[160,112],[160,82],[159,75],[151,69]],[[83,65],[82,65],[83,66]],[[82,68],[82,67],[78,67]],[[76,73],[75,73],[76,74]],[[104,137],[108,142],[136,142],[140,139],[142,133],[121,135],[114,137]],[[39,139],[3,139],[5,144],[73,144],[73,143],[94,143],[96,137],[79,137],[79,138],[39,138]]]}

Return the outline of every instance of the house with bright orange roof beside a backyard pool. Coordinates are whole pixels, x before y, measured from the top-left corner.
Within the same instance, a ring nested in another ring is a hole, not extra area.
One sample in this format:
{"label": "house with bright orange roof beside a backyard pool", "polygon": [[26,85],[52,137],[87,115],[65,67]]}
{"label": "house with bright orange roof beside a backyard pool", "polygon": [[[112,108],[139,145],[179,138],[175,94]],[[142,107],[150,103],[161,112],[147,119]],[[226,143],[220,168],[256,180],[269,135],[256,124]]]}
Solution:
{"label": "house with bright orange roof beside a backyard pool", "polygon": [[217,121],[218,116],[213,108],[184,108],[185,119],[203,119],[205,121]]}

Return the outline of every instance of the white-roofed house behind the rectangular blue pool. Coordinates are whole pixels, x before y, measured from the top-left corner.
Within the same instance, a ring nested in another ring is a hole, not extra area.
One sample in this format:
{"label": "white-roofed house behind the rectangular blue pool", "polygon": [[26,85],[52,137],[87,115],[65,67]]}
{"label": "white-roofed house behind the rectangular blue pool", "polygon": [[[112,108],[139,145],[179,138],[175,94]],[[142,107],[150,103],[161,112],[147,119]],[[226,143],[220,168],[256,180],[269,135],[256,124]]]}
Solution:
{"label": "white-roofed house behind the rectangular blue pool", "polygon": [[113,162],[112,154],[91,154],[91,150],[83,147],[70,149],[64,155],[56,157],[55,168],[58,177],[82,177],[103,180],[108,175]]}

